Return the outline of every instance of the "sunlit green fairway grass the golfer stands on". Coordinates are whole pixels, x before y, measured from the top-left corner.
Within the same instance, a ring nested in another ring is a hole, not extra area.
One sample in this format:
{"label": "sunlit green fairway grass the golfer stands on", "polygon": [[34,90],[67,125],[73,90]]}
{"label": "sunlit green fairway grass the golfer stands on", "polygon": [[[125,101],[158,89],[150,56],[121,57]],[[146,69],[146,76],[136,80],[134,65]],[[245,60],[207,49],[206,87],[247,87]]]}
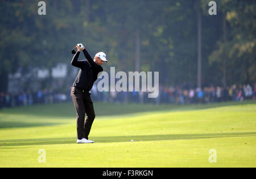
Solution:
{"label": "sunlit green fairway grass the golfer stands on", "polygon": [[[89,136],[94,144],[76,144],[72,103],[0,110],[0,166],[256,166],[255,101],[94,106]],[[46,151],[45,163],[39,163],[40,149]],[[209,162],[210,149],[217,163]]]}

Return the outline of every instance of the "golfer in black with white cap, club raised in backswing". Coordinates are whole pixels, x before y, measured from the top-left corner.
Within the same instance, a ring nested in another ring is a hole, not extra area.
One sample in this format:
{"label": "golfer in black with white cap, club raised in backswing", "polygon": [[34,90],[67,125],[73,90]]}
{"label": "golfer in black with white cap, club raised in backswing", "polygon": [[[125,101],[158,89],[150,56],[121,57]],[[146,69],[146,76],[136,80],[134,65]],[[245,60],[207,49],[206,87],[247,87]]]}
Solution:
{"label": "golfer in black with white cap, club raised in backswing", "polygon": [[[97,53],[93,60],[82,44],[77,44],[76,48],[77,52],[71,61],[71,65],[80,68],[80,70],[71,89],[71,97],[77,114],[77,143],[94,143],[94,141],[88,139],[95,118],[89,91],[97,80],[98,73],[103,71],[101,65],[105,61],[108,62],[108,60],[106,60],[104,52]],[[84,52],[87,60],[78,60],[81,51]],[[87,115],[86,119],[85,114]]]}

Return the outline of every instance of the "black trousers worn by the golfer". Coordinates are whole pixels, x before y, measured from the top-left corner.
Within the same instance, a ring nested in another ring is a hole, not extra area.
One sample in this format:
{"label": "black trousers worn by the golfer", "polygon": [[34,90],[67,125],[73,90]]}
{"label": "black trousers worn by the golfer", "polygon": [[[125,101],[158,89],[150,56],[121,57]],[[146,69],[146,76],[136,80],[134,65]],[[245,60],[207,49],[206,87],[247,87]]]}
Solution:
{"label": "black trousers worn by the golfer", "polygon": [[[77,115],[77,139],[88,139],[90,128],[92,128],[93,120],[95,119],[93,102],[90,98],[90,93],[89,91],[83,92],[82,90],[73,87],[71,89],[71,98],[75,105]],[[85,114],[87,115],[86,119]]]}

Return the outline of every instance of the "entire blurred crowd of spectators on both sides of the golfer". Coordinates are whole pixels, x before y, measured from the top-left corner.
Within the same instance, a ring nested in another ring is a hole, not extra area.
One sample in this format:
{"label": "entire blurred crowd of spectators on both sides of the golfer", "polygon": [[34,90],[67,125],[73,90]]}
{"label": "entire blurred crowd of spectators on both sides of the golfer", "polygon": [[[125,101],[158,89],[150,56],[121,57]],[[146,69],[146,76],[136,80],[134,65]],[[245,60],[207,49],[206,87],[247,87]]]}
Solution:
{"label": "entire blurred crowd of spectators on both sides of the golfer", "polygon": [[[92,100],[114,103],[161,103],[169,104],[191,104],[191,103],[215,103],[224,101],[243,101],[245,99],[254,99],[256,94],[256,84],[250,85],[232,85],[226,88],[220,86],[210,86],[201,88],[186,88],[184,86],[159,86],[159,95],[157,98],[148,98],[147,92],[98,92],[94,85],[92,90]],[[0,109],[28,106],[35,104],[51,104],[64,101],[72,101],[70,89],[65,93],[55,90],[23,91],[22,93],[1,93]]]}

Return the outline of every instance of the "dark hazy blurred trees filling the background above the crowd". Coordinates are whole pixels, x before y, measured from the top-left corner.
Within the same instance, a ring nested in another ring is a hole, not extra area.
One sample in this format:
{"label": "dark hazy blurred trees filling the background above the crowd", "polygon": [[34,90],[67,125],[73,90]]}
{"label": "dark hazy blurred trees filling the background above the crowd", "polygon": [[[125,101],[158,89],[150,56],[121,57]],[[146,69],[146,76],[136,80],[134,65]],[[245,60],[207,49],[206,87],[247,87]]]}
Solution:
{"label": "dark hazy blurred trees filling the background above the crowd", "polygon": [[77,74],[71,50],[77,43],[91,56],[104,51],[107,72],[110,66],[158,71],[167,97],[205,88],[216,95],[220,88],[222,97],[226,90],[237,100],[240,90],[246,97],[245,85],[254,95],[255,1],[215,1],[217,15],[209,15],[209,1],[199,0],[46,0],[46,15],[38,14],[38,2],[0,0],[2,98],[61,93],[66,97],[57,98],[68,100]]}

